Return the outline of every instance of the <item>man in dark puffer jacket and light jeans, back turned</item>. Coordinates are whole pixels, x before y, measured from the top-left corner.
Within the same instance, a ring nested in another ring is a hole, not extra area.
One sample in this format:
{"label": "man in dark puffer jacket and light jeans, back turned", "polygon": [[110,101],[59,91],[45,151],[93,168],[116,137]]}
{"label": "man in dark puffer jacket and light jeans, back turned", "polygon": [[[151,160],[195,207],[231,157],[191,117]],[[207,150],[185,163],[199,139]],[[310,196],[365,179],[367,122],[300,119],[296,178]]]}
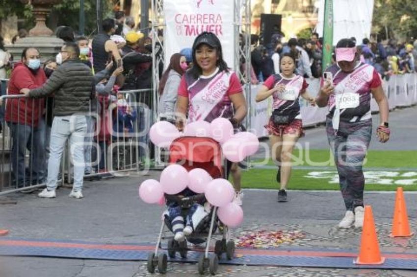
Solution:
{"label": "man in dark puffer jacket and light jeans, back turned", "polygon": [[76,43],[65,43],[56,61],[61,64],[40,88],[20,92],[39,98],[54,93],[55,108],[52,122],[47,188],[38,196],[54,198],[62,152],[69,139],[74,162],[74,186],[70,197],[80,199],[84,177],[84,136],[87,130],[86,115],[94,97],[94,78],[91,69],[79,60]]}

